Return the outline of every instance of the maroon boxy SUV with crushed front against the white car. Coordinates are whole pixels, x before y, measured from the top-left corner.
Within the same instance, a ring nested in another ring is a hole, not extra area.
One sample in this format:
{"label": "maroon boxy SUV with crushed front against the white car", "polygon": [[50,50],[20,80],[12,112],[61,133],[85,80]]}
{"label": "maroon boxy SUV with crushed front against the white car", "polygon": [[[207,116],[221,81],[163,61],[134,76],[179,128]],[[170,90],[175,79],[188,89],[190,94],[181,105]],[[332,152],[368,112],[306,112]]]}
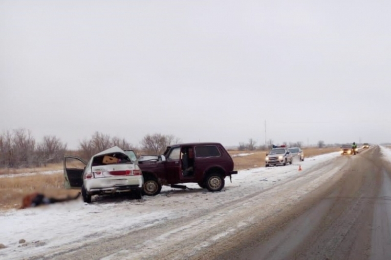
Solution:
{"label": "maroon boxy SUV with crushed front against the white car", "polygon": [[234,171],[227,150],[216,142],[183,143],[168,146],[161,156],[142,156],[138,165],[143,172],[145,195],[159,194],[162,185],[186,188],[180,183],[198,183],[201,188],[219,191],[224,178]]}

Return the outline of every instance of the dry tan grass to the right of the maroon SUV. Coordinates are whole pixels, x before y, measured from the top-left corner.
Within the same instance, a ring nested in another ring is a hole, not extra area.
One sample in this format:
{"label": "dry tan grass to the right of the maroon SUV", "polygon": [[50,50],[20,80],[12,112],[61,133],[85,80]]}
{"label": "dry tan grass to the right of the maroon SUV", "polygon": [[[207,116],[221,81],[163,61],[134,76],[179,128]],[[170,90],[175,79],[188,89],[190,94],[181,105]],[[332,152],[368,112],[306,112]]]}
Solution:
{"label": "dry tan grass to the right of the maroon SUV", "polygon": [[[339,148],[303,148],[303,151],[304,158],[308,158],[320,154],[337,152],[339,151]],[[229,153],[231,155],[237,155],[240,153],[253,153],[247,156],[233,157],[236,170],[265,166],[266,152],[264,151],[229,151]]]}

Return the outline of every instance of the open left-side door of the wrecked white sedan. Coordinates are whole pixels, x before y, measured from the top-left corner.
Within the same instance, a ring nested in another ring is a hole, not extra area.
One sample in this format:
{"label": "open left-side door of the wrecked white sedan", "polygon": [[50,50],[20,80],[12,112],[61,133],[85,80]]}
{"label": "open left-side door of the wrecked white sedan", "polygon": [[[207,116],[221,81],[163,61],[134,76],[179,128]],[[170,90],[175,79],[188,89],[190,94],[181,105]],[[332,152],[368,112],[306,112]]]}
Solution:
{"label": "open left-side door of the wrecked white sedan", "polygon": [[64,188],[80,189],[83,185],[83,172],[87,163],[74,156],[64,156]]}

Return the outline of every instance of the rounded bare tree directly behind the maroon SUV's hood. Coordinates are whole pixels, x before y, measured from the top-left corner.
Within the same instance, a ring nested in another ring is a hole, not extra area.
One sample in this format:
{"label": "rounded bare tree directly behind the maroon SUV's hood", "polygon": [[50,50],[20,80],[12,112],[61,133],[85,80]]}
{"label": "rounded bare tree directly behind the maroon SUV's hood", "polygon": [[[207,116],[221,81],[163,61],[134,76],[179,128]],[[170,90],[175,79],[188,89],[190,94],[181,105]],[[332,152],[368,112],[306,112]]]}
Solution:
{"label": "rounded bare tree directly behind the maroon SUV's hood", "polygon": [[179,143],[180,139],[174,137],[173,135],[162,135],[162,134],[153,134],[146,135],[141,140],[141,146],[144,149],[144,152],[150,155],[159,155],[164,152],[167,146],[174,143]]}

